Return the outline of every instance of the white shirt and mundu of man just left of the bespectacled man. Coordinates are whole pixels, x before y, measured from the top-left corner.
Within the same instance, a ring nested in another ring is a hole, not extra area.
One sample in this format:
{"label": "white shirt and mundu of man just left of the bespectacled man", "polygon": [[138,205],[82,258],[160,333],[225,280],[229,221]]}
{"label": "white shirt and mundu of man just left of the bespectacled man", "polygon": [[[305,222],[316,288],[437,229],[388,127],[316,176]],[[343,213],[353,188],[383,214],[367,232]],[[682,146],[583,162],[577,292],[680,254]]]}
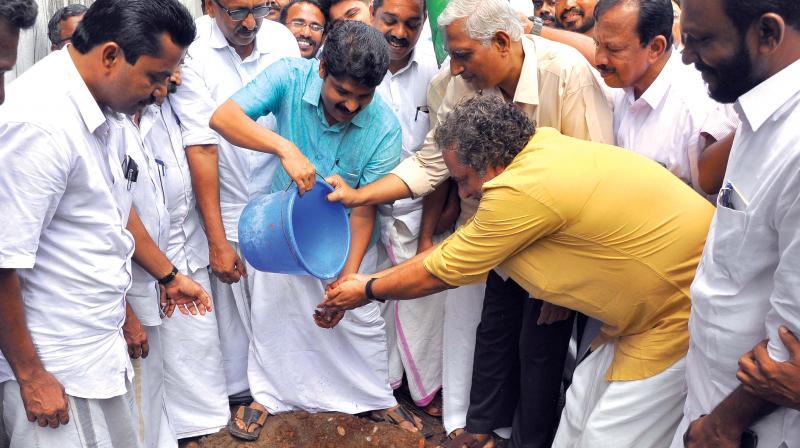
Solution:
{"label": "white shirt and mundu of man just left of the bespectacled man", "polygon": [[[208,242],[195,208],[180,124],[170,102],[147,108],[140,129],[161,169],[169,212],[167,257],[210,294]],[[179,439],[217,432],[227,423],[230,411],[216,316],[174,313],[162,320],[160,332],[170,425]]]}

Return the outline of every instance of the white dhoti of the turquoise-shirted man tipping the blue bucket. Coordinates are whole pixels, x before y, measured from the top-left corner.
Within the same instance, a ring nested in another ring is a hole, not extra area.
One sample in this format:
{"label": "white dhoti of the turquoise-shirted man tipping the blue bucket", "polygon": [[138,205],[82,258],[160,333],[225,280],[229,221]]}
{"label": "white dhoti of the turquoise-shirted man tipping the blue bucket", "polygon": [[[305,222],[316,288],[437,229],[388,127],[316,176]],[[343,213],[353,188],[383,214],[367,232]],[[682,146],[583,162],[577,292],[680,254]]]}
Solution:
{"label": "white dhoti of the turquoise-shirted man tipping the blue bucket", "polygon": [[[373,272],[375,248],[361,265]],[[314,323],[327,282],[311,276],[250,271],[253,291],[248,379],[270,413],[356,414],[394,406],[386,332],[377,304],[348,311],[333,329]]]}

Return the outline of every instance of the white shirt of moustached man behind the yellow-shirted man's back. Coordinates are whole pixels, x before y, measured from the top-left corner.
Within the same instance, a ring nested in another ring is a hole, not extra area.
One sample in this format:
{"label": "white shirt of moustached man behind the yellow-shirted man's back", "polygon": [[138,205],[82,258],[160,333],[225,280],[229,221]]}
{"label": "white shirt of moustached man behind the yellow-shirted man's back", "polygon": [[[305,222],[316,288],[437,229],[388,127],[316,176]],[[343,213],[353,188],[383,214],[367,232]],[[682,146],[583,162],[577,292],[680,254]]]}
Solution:
{"label": "white shirt of moustached man behind the yellow-shirted man's back", "polygon": [[614,92],[617,146],[655,160],[696,188],[697,160],[708,143],[702,135],[719,140],[739,123],[732,108],[709,98],[700,72],[684,65],[677,51],[639,99],[632,87]]}

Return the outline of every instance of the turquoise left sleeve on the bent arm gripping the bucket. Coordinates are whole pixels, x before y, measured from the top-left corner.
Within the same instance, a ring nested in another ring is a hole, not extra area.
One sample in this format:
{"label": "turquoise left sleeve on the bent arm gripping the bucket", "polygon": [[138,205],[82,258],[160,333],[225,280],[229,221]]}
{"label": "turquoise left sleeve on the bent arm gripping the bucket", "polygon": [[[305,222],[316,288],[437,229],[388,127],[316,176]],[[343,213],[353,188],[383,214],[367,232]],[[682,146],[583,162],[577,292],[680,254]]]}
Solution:
{"label": "turquoise left sleeve on the bent arm gripping the bucket", "polygon": [[[294,73],[299,76],[299,73]],[[280,113],[280,101],[292,83],[292,69],[287,59],[281,59],[267,67],[252,81],[236,92],[231,100],[253,120]]]}

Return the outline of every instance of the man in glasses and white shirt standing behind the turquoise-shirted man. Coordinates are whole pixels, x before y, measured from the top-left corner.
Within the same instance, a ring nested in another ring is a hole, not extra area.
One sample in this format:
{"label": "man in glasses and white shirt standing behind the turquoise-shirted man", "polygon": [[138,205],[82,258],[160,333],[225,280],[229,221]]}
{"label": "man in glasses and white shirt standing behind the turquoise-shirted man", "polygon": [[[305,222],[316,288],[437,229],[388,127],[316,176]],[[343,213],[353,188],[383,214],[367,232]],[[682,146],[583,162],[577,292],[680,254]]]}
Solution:
{"label": "man in glasses and white shirt standing behind the turquoise-shirted man", "polygon": [[[254,195],[270,185],[277,163],[289,166],[300,185],[314,183],[313,166],[296,148],[275,157],[247,151],[221,139],[208,127],[214,110],[282,57],[299,57],[292,33],[264,20],[269,8],[259,0],[207,0],[209,26],[189,47],[183,83],[171,104],[183,130],[197,205],[208,236],[214,275],[211,289],[217,306],[228,395],[248,401],[247,356],[250,337],[250,291],[239,252],[239,215]],[[274,128],[272,116],[259,122]],[[300,176],[302,171],[303,175]],[[303,180],[304,179],[304,180]]]}

